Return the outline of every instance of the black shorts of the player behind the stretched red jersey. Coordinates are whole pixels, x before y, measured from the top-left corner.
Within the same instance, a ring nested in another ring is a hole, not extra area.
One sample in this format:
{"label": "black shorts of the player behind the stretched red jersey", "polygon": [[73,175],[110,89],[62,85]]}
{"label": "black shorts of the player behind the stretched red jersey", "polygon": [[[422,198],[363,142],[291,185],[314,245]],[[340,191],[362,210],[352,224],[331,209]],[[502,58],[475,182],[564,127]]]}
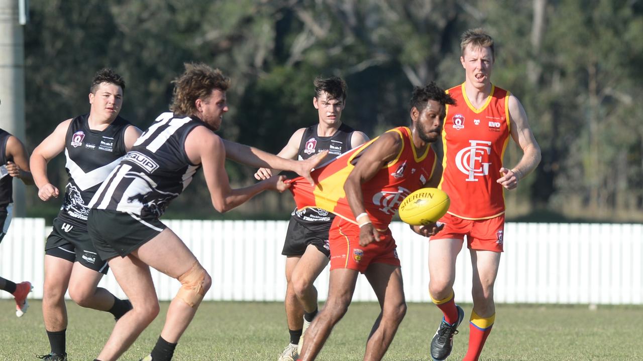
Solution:
{"label": "black shorts of the player behind the stretched red jersey", "polygon": [[330,259],[331,249],[328,244],[328,231],[331,229],[331,222],[328,222],[328,227],[325,227],[324,222],[323,227],[318,228],[315,230],[309,229],[291,217],[288,223],[288,231],[285,234],[282,254],[284,256],[302,256],[308,245],[314,245]]}

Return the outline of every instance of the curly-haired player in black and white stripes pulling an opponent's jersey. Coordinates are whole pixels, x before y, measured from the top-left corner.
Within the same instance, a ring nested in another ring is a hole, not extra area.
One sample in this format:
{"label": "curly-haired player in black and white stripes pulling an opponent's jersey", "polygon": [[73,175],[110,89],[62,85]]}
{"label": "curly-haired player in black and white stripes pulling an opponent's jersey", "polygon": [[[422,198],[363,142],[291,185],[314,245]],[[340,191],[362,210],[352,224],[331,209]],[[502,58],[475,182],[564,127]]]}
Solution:
{"label": "curly-haired player in black and white stripes pulling an opponent's jersey", "polygon": [[185,73],[175,83],[172,112],[161,114],[145,130],[89,204],[89,235],[134,306],[116,322],[96,360],[116,360],[158,315],[150,266],[177,278],[181,288],[170,303],[156,346],[143,360],[172,358],[179,338],[210,288],[208,272],[159,220],[199,168],[203,168],[213,206],[225,212],[266,189],[284,191],[289,187],[280,176],[232,189],[224,168],[226,157],[310,177],[311,168],[326,155],[293,161],[214,134],[228,111],[226,91],[230,86],[230,80],[218,69],[186,64]]}

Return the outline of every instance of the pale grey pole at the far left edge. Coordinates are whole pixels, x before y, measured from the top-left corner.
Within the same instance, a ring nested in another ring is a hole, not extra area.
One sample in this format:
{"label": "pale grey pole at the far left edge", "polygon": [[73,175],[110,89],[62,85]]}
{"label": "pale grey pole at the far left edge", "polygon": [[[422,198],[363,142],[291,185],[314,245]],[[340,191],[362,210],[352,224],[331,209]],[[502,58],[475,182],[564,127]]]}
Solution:
{"label": "pale grey pole at the far left edge", "polygon": [[[19,10],[23,10],[22,14]],[[0,0],[0,128],[26,143],[24,134],[24,33],[28,1]],[[29,146],[27,146],[29,151]],[[14,216],[25,216],[24,184],[14,182]]]}

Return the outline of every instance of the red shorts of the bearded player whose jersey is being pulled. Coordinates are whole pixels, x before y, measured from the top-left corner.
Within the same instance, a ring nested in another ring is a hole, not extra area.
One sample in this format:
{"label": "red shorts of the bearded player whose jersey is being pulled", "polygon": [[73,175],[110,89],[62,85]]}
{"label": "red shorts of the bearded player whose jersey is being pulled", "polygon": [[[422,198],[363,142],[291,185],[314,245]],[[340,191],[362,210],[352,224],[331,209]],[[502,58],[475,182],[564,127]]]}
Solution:
{"label": "red shorts of the bearded player whose jersey is being pulled", "polygon": [[329,231],[331,270],[352,269],[364,273],[371,263],[400,266],[391,230],[379,233],[383,238],[366,247],[359,245],[359,226],[341,217],[335,217]]}

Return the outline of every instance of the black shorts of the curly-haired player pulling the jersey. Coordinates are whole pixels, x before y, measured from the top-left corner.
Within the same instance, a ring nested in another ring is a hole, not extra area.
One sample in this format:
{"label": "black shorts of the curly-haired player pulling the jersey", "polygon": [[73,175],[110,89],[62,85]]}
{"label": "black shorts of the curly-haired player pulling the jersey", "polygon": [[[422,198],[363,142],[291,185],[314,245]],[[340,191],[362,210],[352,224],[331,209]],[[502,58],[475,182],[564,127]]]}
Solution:
{"label": "black shorts of the curly-haired player pulling the jersey", "polygon": [[89,236],[105,260],[127,256],[166,228],[156,217],[141,218],[107,209],[91,209],[87,216]]}

